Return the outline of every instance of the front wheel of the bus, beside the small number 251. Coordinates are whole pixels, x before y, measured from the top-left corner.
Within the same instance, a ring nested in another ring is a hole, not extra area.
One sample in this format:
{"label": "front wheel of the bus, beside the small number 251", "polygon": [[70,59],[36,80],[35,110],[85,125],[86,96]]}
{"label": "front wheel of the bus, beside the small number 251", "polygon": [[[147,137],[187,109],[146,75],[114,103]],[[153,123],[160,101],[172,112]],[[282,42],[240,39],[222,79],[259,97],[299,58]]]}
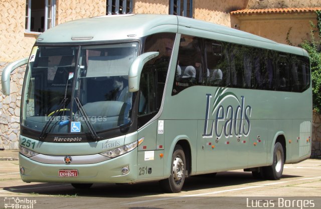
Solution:
{"label": "front wheel of the bus, beside the small number 251", "polygon": [[181,145],[175,146],[172,155],[171,175],[160,181],[161,186],[167,192],[179,192],[185,181],[185,154]]}

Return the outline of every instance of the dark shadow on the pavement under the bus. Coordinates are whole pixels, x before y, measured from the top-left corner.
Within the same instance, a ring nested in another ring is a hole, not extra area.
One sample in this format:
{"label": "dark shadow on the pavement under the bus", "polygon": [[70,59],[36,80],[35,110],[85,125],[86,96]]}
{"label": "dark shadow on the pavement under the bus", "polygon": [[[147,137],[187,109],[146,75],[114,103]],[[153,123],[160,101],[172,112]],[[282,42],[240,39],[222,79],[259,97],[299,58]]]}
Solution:
{"label": "dark shadow on the pavement under the bus", "polygon": [[[283,175],[284,178],[299,177],[298,175]],[[281,180],[282,180],[281,179]],[[264,181],[255,179],[251,172],[226,171],[217,175],[205,174],[186,178],[182,191],[191,191],[207,188],[219,188],[231,185],[248,184]],[[15,192],[19,196],[25,195],[50,195],[59,197],[139,197],[164,194],[158,181],[141,182],[135,184],[95,183],[89,189],[74,188],[69,183],[37,183],[4,187],[4,190]]]}

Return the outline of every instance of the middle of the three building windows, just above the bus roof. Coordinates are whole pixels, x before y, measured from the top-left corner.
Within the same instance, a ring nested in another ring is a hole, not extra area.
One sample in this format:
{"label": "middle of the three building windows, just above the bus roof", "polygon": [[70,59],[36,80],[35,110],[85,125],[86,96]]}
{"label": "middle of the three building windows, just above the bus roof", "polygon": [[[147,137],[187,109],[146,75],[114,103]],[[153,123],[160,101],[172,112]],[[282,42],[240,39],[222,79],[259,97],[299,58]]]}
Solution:
{"label": "middle of the three building windows, just above the bus roof", "polygon": [[132,0],[106,0],[106,15],[132,12]]}

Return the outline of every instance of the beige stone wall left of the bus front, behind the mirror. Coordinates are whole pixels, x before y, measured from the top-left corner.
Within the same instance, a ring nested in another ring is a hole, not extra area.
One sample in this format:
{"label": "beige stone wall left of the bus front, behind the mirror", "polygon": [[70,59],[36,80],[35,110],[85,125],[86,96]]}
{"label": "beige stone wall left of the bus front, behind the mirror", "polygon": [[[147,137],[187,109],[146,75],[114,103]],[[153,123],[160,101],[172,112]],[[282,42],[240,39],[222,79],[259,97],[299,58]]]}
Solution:
{"label": "beige stone wall left of the bus front, behind the mirror", "polygon": [[[0,62],[0,75],[8,62]],[[18,149],[20,102],[26,65],[11,74],[10,95],[0,91],[0,148]],[[0,76],[1,77],[1,76]]]}

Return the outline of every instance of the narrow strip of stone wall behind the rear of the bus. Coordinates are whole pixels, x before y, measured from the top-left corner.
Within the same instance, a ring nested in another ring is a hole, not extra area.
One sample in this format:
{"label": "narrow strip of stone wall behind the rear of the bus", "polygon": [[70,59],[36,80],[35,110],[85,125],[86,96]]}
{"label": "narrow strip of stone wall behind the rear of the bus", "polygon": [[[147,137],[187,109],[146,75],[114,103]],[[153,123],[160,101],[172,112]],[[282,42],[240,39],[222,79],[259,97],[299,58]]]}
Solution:
{"label": "narrow strip of stone wall behind the rear of the bus", "polygon": [[313,112],[311,157],[321,158],[321,114]]}

